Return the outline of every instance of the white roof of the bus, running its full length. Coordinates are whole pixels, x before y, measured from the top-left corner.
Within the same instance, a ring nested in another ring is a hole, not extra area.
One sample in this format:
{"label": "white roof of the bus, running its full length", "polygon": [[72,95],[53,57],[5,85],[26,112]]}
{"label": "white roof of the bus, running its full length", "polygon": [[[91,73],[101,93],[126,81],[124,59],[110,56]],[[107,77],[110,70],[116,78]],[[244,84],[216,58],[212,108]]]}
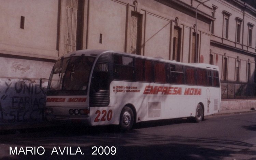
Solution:
{"label": "white roof of the bus, running its full length", "polygon": [[[150,60],[157,60],[157,61],[177,64],[177,65],[183,65],[183,66],[191,66],[191,67],[197,67],[197,68],[218,70],[218,66],[204,64],[204,63],[182,63],[182,62],[177,62],[175,60],[166,60],[161,57],[154,58],[154,57],[141,56],[141,55],[136,55],[136,54],[131,54],[131,53],[125,53],[125,52],[116,52],[116,51],[112,51],[112,50],[91,50],[91,49],[77,50],[77,51],[65,54],[62,57],[65,58],[65,57],[69,57],[69,56],[80,56],[82,54],[85,54],[87,56],[99,57],[100,55],[102,55],[104,53],[116,53],[116,54],[122,54],[122,55],[126,55],[126,56],[139,57],[139,58],[145,58],[145,59],[150,59]],[[61,57],[59,57],[58,60],[59,59],[61,59]]]}

